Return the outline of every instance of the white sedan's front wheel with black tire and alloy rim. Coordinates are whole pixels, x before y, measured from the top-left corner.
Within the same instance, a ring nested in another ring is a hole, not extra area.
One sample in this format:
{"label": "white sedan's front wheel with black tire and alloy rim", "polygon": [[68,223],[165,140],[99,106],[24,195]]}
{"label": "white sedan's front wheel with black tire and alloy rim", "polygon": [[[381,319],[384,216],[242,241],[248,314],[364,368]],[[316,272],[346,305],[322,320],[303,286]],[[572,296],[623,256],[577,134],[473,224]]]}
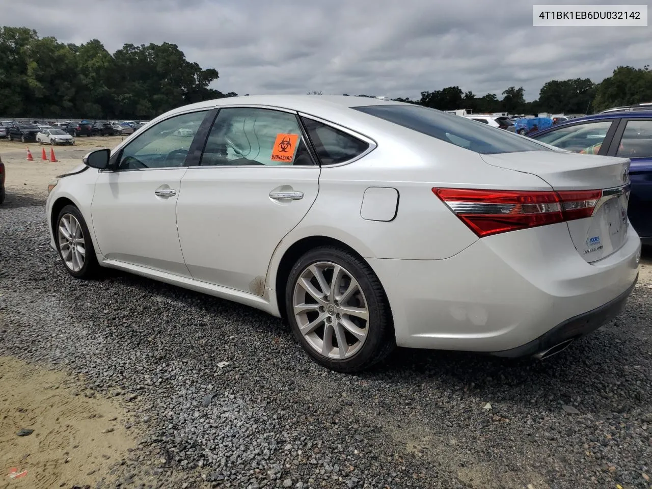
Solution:
{"label": "white sedan's front wheel with black tire and alloy rim", "polygon": [[66,271],[75,278],[91,278],[99,268],[91,233],[80,210],[66,205],[57,216],[54,239]]}

